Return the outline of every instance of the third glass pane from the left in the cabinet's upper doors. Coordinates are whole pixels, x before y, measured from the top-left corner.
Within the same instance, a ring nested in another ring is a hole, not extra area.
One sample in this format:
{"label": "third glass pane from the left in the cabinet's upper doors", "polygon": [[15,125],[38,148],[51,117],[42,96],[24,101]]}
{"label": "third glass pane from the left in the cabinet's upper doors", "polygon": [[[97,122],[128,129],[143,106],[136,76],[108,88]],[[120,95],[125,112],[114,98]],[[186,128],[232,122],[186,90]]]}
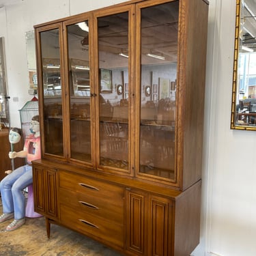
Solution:
{"label": "third glass pane from the left in the cabinet's upper doors", "polygon": [[128,12],[98,18],[100,165],[128,170]]}

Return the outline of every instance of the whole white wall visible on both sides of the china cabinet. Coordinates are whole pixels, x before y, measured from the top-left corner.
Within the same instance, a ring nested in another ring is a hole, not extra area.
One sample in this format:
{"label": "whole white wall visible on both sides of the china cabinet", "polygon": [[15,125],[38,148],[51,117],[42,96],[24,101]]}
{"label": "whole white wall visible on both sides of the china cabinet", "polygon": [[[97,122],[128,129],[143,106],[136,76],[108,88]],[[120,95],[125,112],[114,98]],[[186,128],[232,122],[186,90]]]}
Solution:
{"label": "whole white wall visible on both sides of the china cabinet", "polygon": [[[35,24],[118,2],[23,0],[0,9],[12,126],[20,126],[18,109],[31,99],[25,32]],[[201,242],[195,256],[256,255],[256,133],[229,128],[235,5],[235,0],[210,0]]]}

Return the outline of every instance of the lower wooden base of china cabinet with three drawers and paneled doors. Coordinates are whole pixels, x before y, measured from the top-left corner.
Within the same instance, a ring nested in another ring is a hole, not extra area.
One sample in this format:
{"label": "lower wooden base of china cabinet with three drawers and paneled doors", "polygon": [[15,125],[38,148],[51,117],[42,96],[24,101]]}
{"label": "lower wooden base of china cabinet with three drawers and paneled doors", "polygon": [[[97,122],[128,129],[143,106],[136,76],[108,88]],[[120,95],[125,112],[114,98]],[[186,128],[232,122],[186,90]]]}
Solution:
{"label": "lower wooden base of china cabinet with three drawers and paneled doors", "polygon": [[188,256],[199,243],[201,181],[181,192],[49,160],[33,162],[35,211],[124,255]]}

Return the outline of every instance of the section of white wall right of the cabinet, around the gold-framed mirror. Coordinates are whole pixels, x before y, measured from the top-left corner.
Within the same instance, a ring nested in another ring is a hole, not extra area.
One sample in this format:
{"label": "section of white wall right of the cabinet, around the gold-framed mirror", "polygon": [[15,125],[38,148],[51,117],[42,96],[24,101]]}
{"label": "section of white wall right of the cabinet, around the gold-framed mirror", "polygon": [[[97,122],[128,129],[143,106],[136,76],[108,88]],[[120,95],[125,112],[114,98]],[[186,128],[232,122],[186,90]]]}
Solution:
{"label": "section of white wall right of the cabinet, around the gold-framed mirror", "polygon": [[256,255],[256,134],[230,130],[236,1],[210,0],[201,243],[193,255]]}

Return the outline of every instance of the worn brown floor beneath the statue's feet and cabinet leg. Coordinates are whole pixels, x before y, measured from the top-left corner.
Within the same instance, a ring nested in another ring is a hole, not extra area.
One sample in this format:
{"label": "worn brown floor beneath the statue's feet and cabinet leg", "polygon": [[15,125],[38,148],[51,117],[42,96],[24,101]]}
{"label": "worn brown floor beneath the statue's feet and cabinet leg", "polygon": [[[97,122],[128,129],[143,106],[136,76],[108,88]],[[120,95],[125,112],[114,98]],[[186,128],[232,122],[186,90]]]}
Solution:
{"label": "worn brown floor beneath the statue's feet and cabinet leg", "polygon": [[[1,201],[0,201],[1,204]],[[2,206],[0,206],[0,214]],[[0,255],[4,256],[119,256],[106,246],[79,233],[51,225],[51,238],[46,236],[45,220],[26,218],[14,231],[5,231],[12,220],[0,224]]]}

